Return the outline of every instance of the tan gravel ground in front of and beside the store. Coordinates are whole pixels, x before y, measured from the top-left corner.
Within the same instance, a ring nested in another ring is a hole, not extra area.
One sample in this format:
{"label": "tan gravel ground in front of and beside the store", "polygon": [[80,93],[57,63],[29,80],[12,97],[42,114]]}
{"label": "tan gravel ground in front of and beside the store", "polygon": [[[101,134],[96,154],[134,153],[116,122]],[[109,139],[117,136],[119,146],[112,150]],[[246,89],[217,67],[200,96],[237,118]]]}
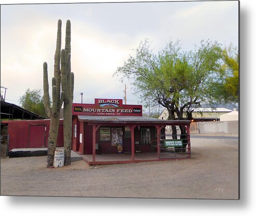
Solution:
{"label": "tan gravel ground in front of and beside the store", "polygon": [[1,158],[1,195],[238,199],[238,139],[191,138],[192,158],[46,168],[46,156]]}

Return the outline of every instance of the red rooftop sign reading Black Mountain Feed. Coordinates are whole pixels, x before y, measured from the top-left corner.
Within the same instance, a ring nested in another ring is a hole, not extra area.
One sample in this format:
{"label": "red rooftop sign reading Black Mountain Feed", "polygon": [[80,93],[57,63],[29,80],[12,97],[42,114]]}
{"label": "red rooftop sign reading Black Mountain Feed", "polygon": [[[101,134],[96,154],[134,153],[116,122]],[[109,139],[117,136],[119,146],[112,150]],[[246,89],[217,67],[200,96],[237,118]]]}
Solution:
{"label": "red rooftop sign reading Black Mountain Feed", "polygon": [[73,115],[142,116],[142,105],[126,105],[121,99],[95,99],[95,104],[73,104]]}

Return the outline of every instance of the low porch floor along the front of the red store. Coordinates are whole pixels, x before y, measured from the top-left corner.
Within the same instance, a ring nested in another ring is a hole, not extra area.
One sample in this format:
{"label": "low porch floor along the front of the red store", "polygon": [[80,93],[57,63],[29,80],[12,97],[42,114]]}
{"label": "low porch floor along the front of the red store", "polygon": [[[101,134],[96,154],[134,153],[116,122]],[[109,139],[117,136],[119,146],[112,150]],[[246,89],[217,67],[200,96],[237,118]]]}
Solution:
{"label": "low porch floor along the front of the red store", "polygon": [[188,153],[169,153],[161,154],[160,159],[157,158],[157,153],[135,153],[134,160],[131,159],[131,154],[96,154],[95,161],[92,161],[92,154],[81,155],[83,160],[89,165],[96,164],[128,164],[159,160],[175,160],[188,159]]}

